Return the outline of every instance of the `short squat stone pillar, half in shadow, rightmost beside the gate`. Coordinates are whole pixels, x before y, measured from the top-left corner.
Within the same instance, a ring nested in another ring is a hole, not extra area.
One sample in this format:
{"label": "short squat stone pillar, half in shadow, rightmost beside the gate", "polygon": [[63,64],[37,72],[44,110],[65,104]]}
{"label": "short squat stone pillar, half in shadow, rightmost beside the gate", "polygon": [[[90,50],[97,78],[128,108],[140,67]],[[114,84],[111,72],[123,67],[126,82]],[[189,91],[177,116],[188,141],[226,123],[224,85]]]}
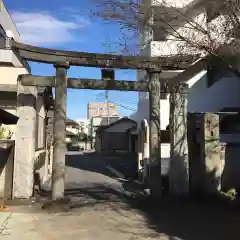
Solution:
{"label": "short squat stone pillar, half in shadow, rightmost beside the gate", "polygon": [[220,143],[219,115],[188,115],[190,190],[192,194],[209,194],[221,190],[225,165],[225,144]]}

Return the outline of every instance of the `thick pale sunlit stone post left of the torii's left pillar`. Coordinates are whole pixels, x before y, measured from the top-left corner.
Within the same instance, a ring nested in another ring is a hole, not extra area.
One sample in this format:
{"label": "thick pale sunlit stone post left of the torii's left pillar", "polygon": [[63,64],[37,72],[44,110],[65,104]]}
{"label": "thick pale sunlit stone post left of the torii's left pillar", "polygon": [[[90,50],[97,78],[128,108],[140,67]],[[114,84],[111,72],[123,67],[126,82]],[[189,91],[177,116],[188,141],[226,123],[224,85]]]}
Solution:
{"label": "thick pale sunlit stone post left of the torii's left pillar", "polygon": [[33,194],[36,138],[37,88],[22,86],[18,80],[13,198],[28,199]]}

